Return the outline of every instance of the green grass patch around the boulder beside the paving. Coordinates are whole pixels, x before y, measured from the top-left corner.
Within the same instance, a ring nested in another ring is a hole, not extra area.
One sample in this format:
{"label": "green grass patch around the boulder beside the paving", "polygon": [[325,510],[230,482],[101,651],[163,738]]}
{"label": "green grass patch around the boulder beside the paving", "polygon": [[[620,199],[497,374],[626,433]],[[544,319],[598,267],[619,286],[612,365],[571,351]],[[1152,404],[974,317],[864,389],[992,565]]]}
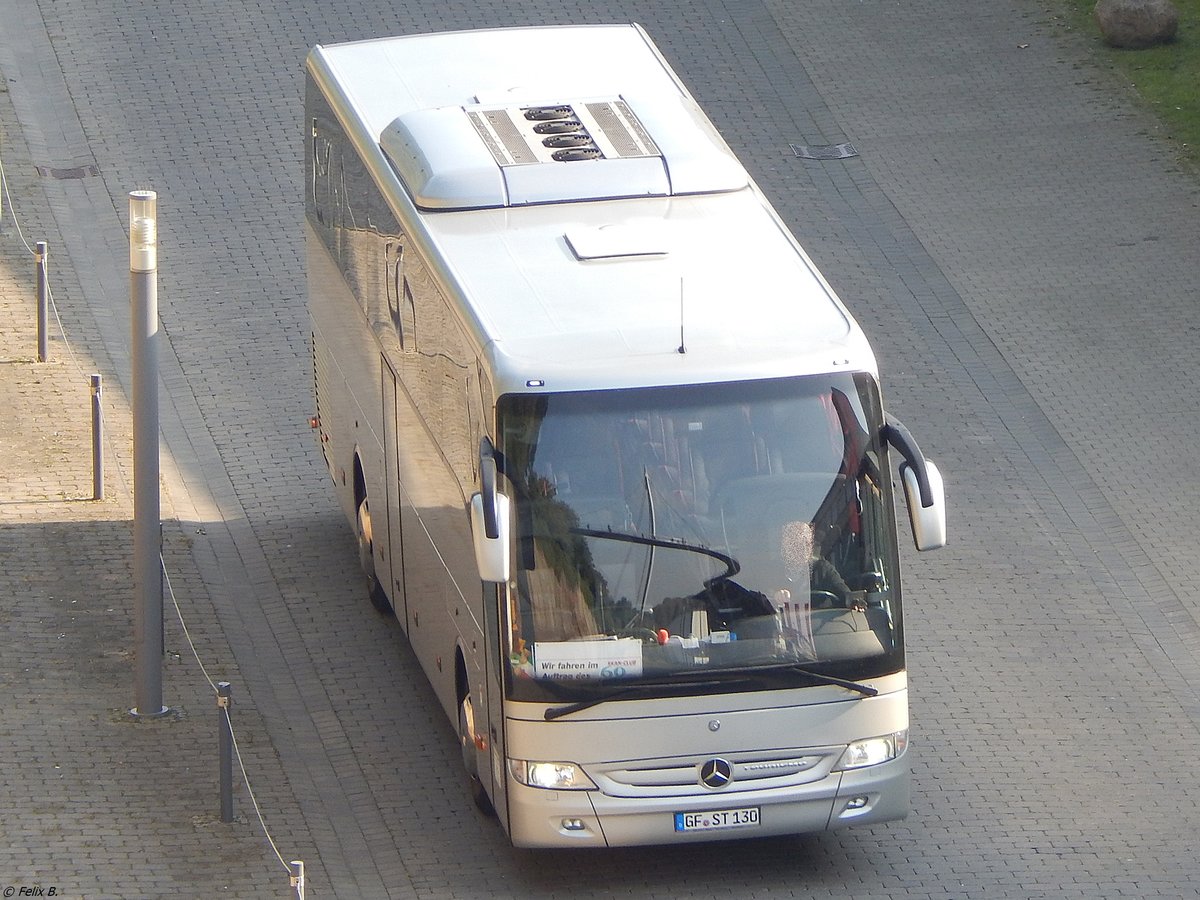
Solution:
{"label": "green grass patch around the boulder beside the paving", "polygon": [[1165,126],[1178,156],[1200,167],[1200,0],[1172,0],[1180,11],[1175,41],[1145,50],[1104,43],[1096,0],[1063,0],[1073,25],[1096,42],[1097,59],[1132,84]]}

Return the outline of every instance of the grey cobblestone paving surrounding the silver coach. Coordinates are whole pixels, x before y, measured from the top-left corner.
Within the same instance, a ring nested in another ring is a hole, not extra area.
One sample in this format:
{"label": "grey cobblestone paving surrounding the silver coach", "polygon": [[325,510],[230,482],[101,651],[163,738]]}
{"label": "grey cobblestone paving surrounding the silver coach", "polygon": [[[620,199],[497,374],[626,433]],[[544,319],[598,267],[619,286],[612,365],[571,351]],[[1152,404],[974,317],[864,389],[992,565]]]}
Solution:
{"label": "grey cobblestone paving surrounding the silver coach", "polygon": [[[302,859],[316,898],[1200,894],[1200,187],[1056,10],[0,0],[0,893],[289,896]],[[622,20],[648,28],[863,322],[890,408],[947,475],[952,547],[905,559],[902,823],[514,851],[470,809],[398,628],[364,601],[307,427],[304,55]],[[857,155],[792,149],[842,143]],[[139,187],[160,193],[163,557],[203,668],[168,598],[172,712],[134,721]],[[46,362],[37,240],[67,338]],[[234,685],[277,852],[245,787],[218,821],[209,679]]]}

